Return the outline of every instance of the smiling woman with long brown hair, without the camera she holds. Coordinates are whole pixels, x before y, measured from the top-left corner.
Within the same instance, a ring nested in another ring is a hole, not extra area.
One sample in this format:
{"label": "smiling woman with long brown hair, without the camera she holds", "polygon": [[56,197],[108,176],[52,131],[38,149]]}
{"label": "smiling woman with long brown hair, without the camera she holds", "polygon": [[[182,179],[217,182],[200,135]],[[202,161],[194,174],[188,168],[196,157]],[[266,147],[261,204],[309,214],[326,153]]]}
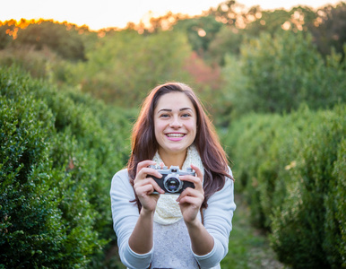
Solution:
{"label": "smiling woman with long brown hair, without the camera she holds", "polygon": [[[191,168],[181,195],[166,195],[152,165]],[[134,125],[132,153],[110,190],[119,255],[128,268],[221,268],[236,209],[226,154],[194,91],[153,89]],[[155,194],[153,194],[155,192]]]}

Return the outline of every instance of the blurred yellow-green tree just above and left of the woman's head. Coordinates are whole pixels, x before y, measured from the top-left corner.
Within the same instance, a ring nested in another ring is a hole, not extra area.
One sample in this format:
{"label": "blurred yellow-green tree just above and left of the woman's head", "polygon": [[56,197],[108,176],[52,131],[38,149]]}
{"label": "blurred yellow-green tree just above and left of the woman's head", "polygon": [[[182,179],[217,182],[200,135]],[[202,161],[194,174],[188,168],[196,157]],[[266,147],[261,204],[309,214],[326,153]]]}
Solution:
{"label": "blurred yellow-green tree just above and left of the woman's head", "polygon": [[87,53],[86,63],[72,65],[70,74],[82,91],[122,107],[137,107],[158,83],[189,80],[184,65],[190,53],[182,33],[113,31]]}

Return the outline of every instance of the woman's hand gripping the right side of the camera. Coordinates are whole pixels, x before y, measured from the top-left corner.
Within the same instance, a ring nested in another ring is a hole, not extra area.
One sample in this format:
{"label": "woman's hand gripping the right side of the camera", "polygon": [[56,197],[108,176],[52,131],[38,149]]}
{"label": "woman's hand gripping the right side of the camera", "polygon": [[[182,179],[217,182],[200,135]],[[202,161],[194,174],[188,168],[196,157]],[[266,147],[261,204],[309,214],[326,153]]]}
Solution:
{"label": "woman's hand gripping the right side of the camera", "polygon": [[195,165],[191,165],[191,168],[195,170],[195,177],[186,175],[180,176],[179,178],[181,180],[193,182],[195,184],[195,188],[187,187],[181,193],[181,195],[179,195],[177,202],[179,203],[180,210],[186,224],[196,225],[196,221],[198,221],[197,214],[200,211],[204,200],[204,191],[202,186],[203,173]]}

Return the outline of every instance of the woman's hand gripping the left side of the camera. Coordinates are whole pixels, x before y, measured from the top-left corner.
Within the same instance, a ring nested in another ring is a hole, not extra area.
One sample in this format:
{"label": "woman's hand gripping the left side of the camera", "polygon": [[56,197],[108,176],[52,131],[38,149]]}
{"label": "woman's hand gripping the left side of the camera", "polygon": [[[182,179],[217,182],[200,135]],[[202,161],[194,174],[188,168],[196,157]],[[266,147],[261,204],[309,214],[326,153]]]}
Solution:
{"label": "woman's hand gripping the left side of the camera", "polygon": [[149,160],[139,162],[136,177],[134,178],[134,192],[142,204],[142,209],[151,213],[154,212],[160,197],[160,195],[152,195],[152,192],[156,190],[160,194],[164,193],[154,179],[147,178],[147,176],[153,176],[155,178],[162,177],[156,169],[148,167],[155,164],[155,161]]}

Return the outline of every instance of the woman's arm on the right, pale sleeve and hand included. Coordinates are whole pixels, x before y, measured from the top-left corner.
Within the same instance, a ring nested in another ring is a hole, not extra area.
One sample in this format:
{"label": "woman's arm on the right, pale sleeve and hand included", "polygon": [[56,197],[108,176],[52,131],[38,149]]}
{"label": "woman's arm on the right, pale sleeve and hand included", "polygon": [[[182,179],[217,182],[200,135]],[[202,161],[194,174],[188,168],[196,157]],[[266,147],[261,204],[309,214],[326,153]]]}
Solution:
{"label": "woman's arm on the right, pale sleeve and hand included", "polygon": [[[196,170],[196,177],[201,178],[198,170],[195,167],[193,169]],[[200,203],[202,204],[199,195],[203,195],[203,192],[195,178],[186,177],[187,179],[194,181],[195,189],[187,188],[186,193],[183,193],[178,201],[190,235],[193,254],[202,268],[210,268],[218,265],[228,253],[231,220],[236,208],[233,181],[226,178],[225,186],[211,196],[208,209],[204,211],[203,226],[195,217],[197,208],[199,210]]]}

